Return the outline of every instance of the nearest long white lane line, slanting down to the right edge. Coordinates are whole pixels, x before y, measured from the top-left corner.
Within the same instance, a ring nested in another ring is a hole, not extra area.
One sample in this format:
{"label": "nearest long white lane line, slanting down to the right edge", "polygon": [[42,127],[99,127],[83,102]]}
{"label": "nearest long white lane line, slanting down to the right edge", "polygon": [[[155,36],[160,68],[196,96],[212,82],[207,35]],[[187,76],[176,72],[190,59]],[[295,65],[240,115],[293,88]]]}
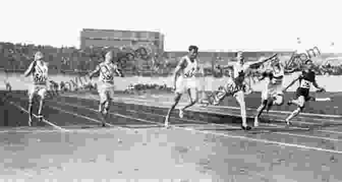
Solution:
{"label": "nearest long white lane line, slanting down to the right edge", "polygon": [[[62,103],[62,105],[63,105],[63,103]],[[68,105],[68,104],[66,104],[66,105]],[[74,107],[82,108],[83,106],[74,106]],[[93,110],[93,109],[90,109],[87,107],[83,107],[83,108],[88,109],[88,110]],[[145,119],[139,119],[139,118],[134,118],[134,117],[129,117],[129,116],[125,116],[125,117],[130,118],[130,119],[135,119],[135,120],[145,120]],[[155,123],[155,122],[150,122],[150,121],[147,121],[147,122],[148,123]],[[266,139],[256,139],[256,138],[250,138],[250,137],[245,137],[245,136],[229,135],[229,134],[224,134],[224,133],[215,133],[215,132],[210,132],[210,131],[201,131],[201,130],[195,130],[195,129],[187,128],[187,127],[177,127],[177,126],[171,126],[171,127],[176,128],[176,129],[181,129],[181,130],[194,131],[197,133],[218,135],[218,136],[223,136],[226,138],[237,138],[237,139],[249,140],[249,141],[260,142],[260,143],[269,143],[269,144],[276,144],[276,145],[281,145],[281,146],[292,146],[292,147],[297,147],[297,148],[302,148],[302,149],[312,149],[312,150],[317,150],[317,151],[325,151],[328,153],[342,154],[342,151],[339,151],[339,150],[325,149],[325,148],[319,148],[319,147],[311,147],[311,146],[299,145],[299,144],[294,144],[294,143],[277,142],[277,141],[266,140]]]}

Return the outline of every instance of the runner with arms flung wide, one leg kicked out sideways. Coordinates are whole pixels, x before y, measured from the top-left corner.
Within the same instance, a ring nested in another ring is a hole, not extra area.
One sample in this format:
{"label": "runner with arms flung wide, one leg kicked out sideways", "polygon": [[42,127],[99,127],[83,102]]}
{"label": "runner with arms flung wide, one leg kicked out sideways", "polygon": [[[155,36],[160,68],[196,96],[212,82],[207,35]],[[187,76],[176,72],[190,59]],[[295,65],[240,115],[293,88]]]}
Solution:
{"label": "runner with arms flung wide, one leg kicked out sideways", "polygon": [[[219,89],[217,92],[215,92],[212,95],[213,97],[209,100],[209,103],[213,105],[218,105],[220,101],[222,101],[226,96],[233,96],[240,105],[241,118],[242,118],[241,128],[243,130],[250,130],[251,127],[247,125],[247,118],[246,118],[246,103],[245,103],[246,71],[248,71],[248,69],[251,66],[260,65],[260,64],[267,62],[268,60],[273,58],[275,55],[264,60],[259,60],[257,62],[245,63],[242,52],[241,51],[237,52],[236,54],[237,62],[230,62],[226,66],[223,67],[223,69],[233,67],[233,75],[232,75],[233,78],[230,79],[228,83],[225,84],[225,86],[223,86],[224,89]],[[222,86],[220,87],[222,88]]]}

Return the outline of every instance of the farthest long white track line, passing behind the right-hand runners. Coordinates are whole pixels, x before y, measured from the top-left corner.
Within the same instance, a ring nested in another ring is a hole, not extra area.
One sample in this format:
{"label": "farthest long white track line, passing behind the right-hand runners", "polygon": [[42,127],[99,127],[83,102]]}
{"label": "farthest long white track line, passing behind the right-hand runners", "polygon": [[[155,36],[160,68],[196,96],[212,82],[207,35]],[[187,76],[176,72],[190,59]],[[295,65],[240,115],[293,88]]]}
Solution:
{"label": "farthest long white track line, passing behind the right-hand runners", "polygon": [[[148,99],[137,99],[137,98],[124,98],[124,97],[120,97],[118,96],[117,98],[120,99],[127,99],[127,100],[137,100],[137,101],[149,101]],[[151,101],[150,101],[151,102]],[[152,101],[153,102],[153,101]],[[167,101],[163,101],[159,103],[165,103],[165,104],[173,104],[172,102],[167,102]],[[184,104],[184,103],[180,103],[180,104]],[[196,104],[198,107],[200,107],[199,104]],[[213,107],[213,108],[226,108],[226,109],[235,109],[235,110],[240,110],[239,107],[233,107],[233,106],[208,106],[208,107]],[[257,109],[253,109],[253,108],[246,108],[246,110],[253,110],[256,111]],[[274,113],[282,113],[282,114],[291,114],[290,111],[278,111],[278,110],[269,110],[269,112],[274,112]],[[302,112],[299,115],[305,115],[305,116],[320,116],[320,117],[333,117],[333,118],[342,118],[342,115],[334,115],[334,114],[313,114],[313,113],[306,113],[306,112]]]}

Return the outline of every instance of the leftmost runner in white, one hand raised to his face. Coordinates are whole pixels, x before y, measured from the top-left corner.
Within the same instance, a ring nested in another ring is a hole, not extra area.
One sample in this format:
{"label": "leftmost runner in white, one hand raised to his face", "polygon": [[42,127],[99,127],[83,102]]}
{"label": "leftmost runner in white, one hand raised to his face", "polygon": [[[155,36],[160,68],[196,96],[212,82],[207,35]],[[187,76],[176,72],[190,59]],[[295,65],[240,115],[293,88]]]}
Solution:
{"label": "leftmost runner in white, one hand raised to his face", "polygon": [[40,97],[38,120],[43,119],[42,108],[44,98],[47,92],[47,80],[48,80],[48,65],[44,62],[44,55],[42,52],[36,52],[34,61],[30,64],[29,68],[25,71],[24,76],[32,75],[32,87],[27,92],[29,94],[29,126],[32,125],[32,104],[35,95]]}

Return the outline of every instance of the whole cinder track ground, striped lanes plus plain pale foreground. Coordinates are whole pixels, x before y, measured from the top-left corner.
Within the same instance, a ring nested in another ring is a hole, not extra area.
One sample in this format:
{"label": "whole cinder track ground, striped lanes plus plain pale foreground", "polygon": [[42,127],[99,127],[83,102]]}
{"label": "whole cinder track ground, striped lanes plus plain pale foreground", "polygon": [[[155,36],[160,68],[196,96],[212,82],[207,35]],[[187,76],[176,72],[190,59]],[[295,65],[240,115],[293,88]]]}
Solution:
{"label": "whole cinder track ground, striped lanes plus plain pale foreground", "polygon": [[27,127],[27,99],[14,93],[0,106],[8,125],[0,131],[0,178],[342,181],[339,115],[302,114],[286,128],[286,113],[273,111],[246,132],[234,105],[194,106],[184,118],[173,112],[173,127],[164,129],[171,99],[118,94],[102,128],[97,96],[64,95],[45,103],[44,122]]}

